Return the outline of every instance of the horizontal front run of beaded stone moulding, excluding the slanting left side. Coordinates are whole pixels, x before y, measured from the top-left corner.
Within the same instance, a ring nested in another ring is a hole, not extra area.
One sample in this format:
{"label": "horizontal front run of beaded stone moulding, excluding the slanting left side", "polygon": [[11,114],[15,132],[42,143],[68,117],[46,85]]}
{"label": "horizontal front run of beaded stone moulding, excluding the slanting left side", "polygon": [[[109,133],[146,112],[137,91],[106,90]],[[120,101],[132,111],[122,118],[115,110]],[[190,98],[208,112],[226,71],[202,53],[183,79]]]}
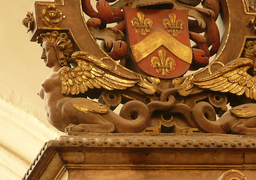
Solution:
{"label": "horizontal front run of beaded stone moulding, excluding the slanting left side", "polygon": [[[70,133],[70,132],[68,132]],[[70,133],[75,134],[75,133]],[[180,134],[97,134],[87,133],[84,136],[61,136],[50,140],[51,146],[75,147],[149,147],[149,148],[218,148],[240,149],[256,148],[255,136],[246,135],[220,135],[191,133],[184,136]]]}

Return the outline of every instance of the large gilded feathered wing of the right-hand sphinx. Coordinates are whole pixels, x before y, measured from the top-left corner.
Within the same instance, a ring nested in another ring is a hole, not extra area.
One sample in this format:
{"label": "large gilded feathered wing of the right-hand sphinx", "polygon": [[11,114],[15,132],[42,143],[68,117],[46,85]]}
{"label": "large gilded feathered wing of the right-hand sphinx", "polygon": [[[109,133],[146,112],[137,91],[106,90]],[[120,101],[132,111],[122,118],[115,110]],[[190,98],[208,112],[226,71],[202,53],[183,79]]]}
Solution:
{"label": "large gilded feathered wing of the right-hand sphinx", "polygon": [[256,77],[252,77],[247,70],[253,66],[250,59],[239,58],[226,64],[210,76],[193,83],[200,88],[213,91],[230,92],[256,100]]}

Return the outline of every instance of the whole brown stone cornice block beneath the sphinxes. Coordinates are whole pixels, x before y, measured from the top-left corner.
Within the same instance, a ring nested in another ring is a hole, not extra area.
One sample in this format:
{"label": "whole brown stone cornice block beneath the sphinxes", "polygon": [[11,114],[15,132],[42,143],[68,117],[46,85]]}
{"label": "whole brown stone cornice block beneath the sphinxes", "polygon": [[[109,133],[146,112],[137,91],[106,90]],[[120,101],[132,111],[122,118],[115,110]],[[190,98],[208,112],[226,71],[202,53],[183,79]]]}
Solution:
{"label": "whole brown stone cornice block beneath the sphinxes", "polygon": [[44,144],[23,180],[253,180],[255,150],[255,136],[244,135],[66,135]]}

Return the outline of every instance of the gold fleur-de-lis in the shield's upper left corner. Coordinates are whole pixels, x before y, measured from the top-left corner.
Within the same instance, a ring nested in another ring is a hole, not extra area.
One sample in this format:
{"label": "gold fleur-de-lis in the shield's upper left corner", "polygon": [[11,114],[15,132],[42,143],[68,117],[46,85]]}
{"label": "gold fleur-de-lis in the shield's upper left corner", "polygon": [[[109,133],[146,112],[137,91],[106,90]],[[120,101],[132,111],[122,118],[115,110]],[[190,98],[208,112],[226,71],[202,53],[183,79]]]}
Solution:
{"label": "gold fleur-de-lis in the shield's upper left corner", "polygon": [[153,21],[150,18],[144,20],[145,14],[143,12],[137,12],[138,18],[131,18],[130,22],[132,27],[135,28],[136,33],[141,33],[141,35],[146,35],[146,32],[150,32],[152,28]]}

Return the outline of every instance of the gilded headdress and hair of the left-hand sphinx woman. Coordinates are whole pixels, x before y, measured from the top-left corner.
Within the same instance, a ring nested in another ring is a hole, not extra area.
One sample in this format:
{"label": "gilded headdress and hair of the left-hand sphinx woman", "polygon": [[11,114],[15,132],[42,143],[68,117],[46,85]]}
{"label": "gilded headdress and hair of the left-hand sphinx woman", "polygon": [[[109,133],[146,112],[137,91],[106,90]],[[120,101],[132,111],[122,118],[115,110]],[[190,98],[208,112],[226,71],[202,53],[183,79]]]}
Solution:
{"label": "gilded headdress and hair of the left-hand sphinx woman", "polygon": [[37,43],[40,43],[41,45],[47,43],[56,49],[61,66],[70,66],[70,57],[74,51],[73,45],[66,33],[59,34],[58,31],[52,31],[51,33],[42,33],[36,39]]}

